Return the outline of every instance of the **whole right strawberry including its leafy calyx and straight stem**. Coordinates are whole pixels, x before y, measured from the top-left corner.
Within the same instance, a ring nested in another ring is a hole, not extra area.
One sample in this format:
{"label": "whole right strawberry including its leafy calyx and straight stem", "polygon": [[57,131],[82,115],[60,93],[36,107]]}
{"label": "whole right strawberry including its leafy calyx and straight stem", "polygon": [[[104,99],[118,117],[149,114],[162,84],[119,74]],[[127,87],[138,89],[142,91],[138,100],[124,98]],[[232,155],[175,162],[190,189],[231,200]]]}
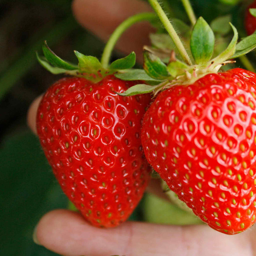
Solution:
{"label": "whole right strawberry including its leafy calyx and straight stem", "polygon": [[244,231],[256,215],[256,74],[218,70],[255,48],[256,39],[237,43],[230,24],[233,38],[216,56],[214,33],[199,17],[189,56],[157,0],[149,2],[177,49],[167,61],[161,51],[144,47],[144,71],[158,83],[137,84],[121,94],[157,95],[143,118],[145,156],[170,190],[211,228],[226,234]]}

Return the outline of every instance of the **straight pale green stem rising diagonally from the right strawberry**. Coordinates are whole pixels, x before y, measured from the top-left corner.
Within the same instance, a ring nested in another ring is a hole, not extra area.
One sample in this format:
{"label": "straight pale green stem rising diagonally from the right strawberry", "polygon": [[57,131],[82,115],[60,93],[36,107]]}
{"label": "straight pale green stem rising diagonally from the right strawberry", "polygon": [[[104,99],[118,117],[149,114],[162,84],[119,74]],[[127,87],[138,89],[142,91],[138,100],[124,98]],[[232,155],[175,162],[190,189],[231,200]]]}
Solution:
{"label": "straight pale green stem rising diagonally from the right strawberry", "polygon": [[173,40],[175,46],[177,47],[177,49],[178,49],[181,57],[185,61],[185,63],[187,63],[188,65],[192,65],[192,61],[190,60],[190,58],[189,58],[189,56],[186,52],[186,49],[185,49],[184,45],[182,44],[182,42],[179,38],[179,35],[174,30],[170,20],[166,16],[165,12],[162,10],[160,4],[157,2],[157,0],[148,0],[148,2],[150,2],[152,8],[154,9],[156,14],[158,15],[158,17],[161,20],[163,26],[165,27],[165,29],[169,33],[171,39]]}

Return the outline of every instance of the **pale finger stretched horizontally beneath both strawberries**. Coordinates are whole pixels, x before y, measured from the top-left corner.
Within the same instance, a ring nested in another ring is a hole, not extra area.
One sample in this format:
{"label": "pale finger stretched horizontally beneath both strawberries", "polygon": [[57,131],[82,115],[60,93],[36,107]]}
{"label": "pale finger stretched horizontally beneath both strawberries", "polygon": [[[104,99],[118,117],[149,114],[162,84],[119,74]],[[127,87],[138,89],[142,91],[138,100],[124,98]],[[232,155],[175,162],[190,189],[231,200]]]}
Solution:
{"label": "pale finger stretched horizontally beneath both strawberries", "polygon": [[67,210],[46,214],[36,230],[38,242],[61,255],[252,255],[250,232],[228,236],[206,225],[168,226],[126,222],[96,228]]}

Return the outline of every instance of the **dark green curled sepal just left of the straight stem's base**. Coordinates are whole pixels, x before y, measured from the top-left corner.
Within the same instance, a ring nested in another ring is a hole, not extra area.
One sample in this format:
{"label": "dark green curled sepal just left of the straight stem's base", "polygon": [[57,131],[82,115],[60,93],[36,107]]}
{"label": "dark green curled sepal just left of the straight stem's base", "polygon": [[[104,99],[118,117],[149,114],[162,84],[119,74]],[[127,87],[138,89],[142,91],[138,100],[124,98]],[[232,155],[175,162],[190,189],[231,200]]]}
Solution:
{"label": "dark green curled sepal just left of the straight stem's base", "polygon": [[144,51],[144,65],[143,68],[145,72],[154,79],[167,79],[169,73],[165,63],[161,59],[150,52]]}

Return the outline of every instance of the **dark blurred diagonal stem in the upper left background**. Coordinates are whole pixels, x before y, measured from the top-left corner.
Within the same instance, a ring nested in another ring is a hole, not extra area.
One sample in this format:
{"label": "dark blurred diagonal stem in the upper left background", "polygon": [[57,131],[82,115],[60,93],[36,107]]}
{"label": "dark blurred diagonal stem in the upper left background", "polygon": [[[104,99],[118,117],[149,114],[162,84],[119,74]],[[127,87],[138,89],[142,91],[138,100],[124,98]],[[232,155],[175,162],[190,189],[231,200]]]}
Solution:
{"label": "dark blurred diagonal stem in the upper left background", "polygon": [[76,28],[78,28],[77,23],[74,18],[70,16],[55,25],[51,30],[49,30],[47,26],[47,32],[45,28],[43,31],[39,31],[40,38],[37,38],[36,42],[29,43],[22,57],[2,73],[3,75],[0,77],[0,100],[8,90],[37,63],[35,51],[41,48],[45,39],[47,39],[49,45],[53,45]]}

